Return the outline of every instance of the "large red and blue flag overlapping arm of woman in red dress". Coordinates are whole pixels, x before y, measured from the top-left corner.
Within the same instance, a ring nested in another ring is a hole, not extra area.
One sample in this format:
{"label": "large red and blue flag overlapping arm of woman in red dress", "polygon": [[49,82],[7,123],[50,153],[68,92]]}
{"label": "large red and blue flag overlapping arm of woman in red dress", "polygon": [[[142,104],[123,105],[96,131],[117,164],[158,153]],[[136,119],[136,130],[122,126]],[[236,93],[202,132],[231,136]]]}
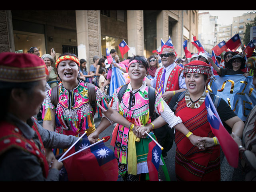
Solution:
{"label": "large red and blue flag overlapping arm of woman in red dress", "polygon": [[205,106],[208,112],[207,118],[212,129],[212,133],[218,138],[220,146],[230,166],[237,168],[239,158],[238,146],[226,128],[224,128],[209,93],[206,95]]}

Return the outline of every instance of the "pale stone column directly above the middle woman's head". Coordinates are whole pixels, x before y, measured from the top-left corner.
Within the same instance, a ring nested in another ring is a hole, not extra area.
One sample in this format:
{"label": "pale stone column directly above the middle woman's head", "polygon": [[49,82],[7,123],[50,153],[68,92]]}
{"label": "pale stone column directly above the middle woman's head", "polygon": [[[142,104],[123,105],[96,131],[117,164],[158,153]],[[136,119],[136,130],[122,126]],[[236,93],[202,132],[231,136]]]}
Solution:
{"label": "pale stone column directly above the middle woman's head", "polygon": [[144,26],[143,26],[143,11],[128,10],[127,11],[127,31],[128,42],[130,47],[128,56],[144,55]]}

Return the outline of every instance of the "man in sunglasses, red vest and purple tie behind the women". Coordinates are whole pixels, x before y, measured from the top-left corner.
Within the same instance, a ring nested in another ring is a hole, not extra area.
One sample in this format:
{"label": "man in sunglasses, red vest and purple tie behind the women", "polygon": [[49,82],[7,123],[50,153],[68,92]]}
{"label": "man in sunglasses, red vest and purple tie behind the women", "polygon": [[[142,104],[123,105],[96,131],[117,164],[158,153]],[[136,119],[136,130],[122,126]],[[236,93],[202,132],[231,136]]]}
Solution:
{"label": "man in sunglasses, red vest and purple tie behind the women", "polygon": [[[151,81],[147,79],[147,83],[162,94],[162,98],[168,104],[174,94],[186,90],[186,84],[185,79],[182,78],[183,68],[175,63],[176,56],[174,48],[164,45],[160,57],[163,67],[160,68]],[[164,147],[162,156],[166,159],[167,152],[172,148],[174,129],[170,129],[168,125],[165,125],[154,130],[154,134],[159,144]]]}

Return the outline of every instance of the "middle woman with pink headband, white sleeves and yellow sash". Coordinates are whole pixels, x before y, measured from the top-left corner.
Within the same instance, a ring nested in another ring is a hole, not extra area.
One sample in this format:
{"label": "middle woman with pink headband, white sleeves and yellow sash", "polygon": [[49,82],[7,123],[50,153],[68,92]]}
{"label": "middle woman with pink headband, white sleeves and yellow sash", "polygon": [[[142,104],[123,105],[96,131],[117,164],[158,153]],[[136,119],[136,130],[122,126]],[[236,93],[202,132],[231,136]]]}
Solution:
{"label": "middle woman with pink headband, white sleeves and yellow sash", "polygon": [[[118,93],[122,87],[114,91],[110,101],[110,106],[114,110],[132,122],[130,129],[129,127],[117,124],[111,141],[111,145],[114,146],[114,153],[118,159],[119,174],[123,176],[125,181],[142,180],[140,176],[145,176],[148,173],[148,144],[152,140],[146,138],[145,131],[152,134],[153,132],[150,131],[153,128],[159,128],[167,122],[170,128],[176,128],[184,132],[184,134],[188,133],[188,129],[182,124],[180,118],[176,117],[170,110],[162,96],[144,81],[148,67],[148,62],[143,56],[131,58],[128,64],[130,83],[125,85],[127,87],[122,96],[122,101],[118,99]],[[152,89],[154,91],[153,96],[155,96],[153,108],[160,115],[160,118],[156,118],[156,120],[151,122],[149,99],[152,100],[152,98],[149,98],[149,95],[151,95],[149,90]],[[98,138],[99,134],[111,123],[113,122],[107,118],[102,118],[100,125],[90,136]],[[140,128],[136,131],[134,130],[135,126]],[[201,142],[198,141],[198,138],[194,135],[191,138],[191,142],[195,145],[200,144]]]}

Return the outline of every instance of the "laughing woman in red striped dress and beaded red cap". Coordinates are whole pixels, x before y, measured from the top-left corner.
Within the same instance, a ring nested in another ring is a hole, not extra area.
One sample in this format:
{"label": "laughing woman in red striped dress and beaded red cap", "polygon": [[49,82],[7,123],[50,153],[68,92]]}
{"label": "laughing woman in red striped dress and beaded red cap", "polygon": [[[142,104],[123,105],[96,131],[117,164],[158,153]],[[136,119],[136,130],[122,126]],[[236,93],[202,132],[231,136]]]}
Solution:
{"label": "laughing woman in red striped dress and beaded red cap", "polygon": [[[175,170],[177,180],[181,181],[220,181],[220,145],[218,138],[214,137],[207,120],[205,106],[206,87],[213,78],[210,65],[203,61],[192,61],[184,65],[184,76],[187,90],[183,98],[179,99],[176,110],[174,106],[180,94],[175,95],[169,106],[180,116],[190,134],[184,135],[178,130],[175,132],[176,157]],[[210,94],[211,97],[214,94]],[[228,104],[220,99],[217,108],[222,120],[232,128],[232,132],[242,136],[244,122],[236,116]],[[206,142],[205,150],[200,150],[188,141],[191,135],[204,137],[199,139]]]}

